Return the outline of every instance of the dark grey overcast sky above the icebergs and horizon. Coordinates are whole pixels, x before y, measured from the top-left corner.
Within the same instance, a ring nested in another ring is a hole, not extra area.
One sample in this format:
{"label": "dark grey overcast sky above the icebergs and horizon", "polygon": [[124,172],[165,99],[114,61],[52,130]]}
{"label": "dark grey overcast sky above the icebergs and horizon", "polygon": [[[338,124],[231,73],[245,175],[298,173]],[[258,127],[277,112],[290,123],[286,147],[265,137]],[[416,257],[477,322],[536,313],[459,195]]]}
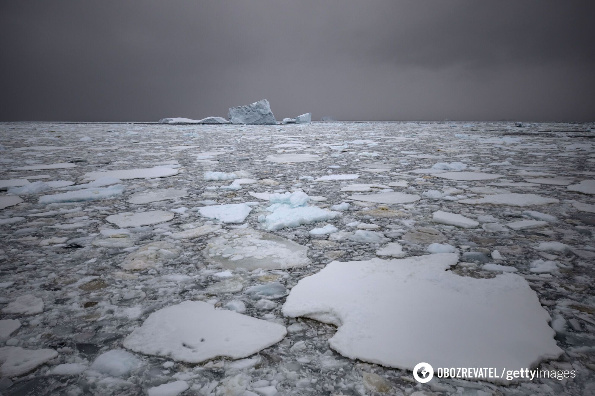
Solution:
{"label": "dark grey overcast sky above the icebergs and horizon", "polygon": [[0,2],[0,121],[595,120],[594,1]]}

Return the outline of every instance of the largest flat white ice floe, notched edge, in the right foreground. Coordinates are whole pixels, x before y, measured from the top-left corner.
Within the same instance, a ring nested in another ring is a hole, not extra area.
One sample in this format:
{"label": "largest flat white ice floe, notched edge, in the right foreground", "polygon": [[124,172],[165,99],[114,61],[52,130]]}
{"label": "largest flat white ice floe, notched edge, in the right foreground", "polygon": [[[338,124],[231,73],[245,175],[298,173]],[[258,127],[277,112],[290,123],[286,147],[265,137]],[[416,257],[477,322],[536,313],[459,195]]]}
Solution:
{"label": "largest flat white ice floe, notched edge, in the right foreground", "polygon": [[400,369],[428,362],[502,372],[562,354],[550,316],[524,278],[475,279],[445,271],[457,261],[454,253],[334,261],[292,288],[283,314],[336,325],[331,348]]}

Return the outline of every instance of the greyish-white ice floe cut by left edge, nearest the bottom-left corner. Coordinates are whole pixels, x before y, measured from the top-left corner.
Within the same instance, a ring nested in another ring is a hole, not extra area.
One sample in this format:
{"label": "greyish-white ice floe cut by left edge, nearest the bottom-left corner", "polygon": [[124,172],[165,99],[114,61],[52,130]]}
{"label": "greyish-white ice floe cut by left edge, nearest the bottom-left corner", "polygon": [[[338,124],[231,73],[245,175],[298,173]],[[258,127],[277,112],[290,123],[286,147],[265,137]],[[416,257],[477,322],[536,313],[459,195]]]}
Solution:
{"label": "greyish-white ice floe cut by left edge, nearest the bottom-left corner", "polygon": [[43,363],[54,359],[58,352],[53,349],[0,348],[0,376],[15,377],[26,374]]}

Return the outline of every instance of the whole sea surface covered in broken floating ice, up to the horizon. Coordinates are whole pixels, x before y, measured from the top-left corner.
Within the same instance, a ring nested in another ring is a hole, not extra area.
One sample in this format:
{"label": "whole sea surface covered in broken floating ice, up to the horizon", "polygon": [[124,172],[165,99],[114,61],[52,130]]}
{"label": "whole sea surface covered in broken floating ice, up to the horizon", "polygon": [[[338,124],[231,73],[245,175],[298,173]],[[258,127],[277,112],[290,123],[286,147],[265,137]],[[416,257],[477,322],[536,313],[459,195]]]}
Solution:
{"label": "whole sea surface covered in broken floating ice, up to the horizon", "polygon": [[593,125],[525,125],[0,124],[0,393],[595,394]]}

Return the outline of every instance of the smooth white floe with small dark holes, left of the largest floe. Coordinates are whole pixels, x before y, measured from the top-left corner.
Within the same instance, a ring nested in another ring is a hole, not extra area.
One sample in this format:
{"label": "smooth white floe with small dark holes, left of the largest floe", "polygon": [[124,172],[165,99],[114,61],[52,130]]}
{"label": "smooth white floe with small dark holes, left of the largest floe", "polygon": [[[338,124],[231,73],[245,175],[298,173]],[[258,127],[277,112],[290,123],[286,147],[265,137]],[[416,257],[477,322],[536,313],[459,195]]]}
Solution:
{"label": "smooth white floe with small dark holes, left of the largest floe", "polygon": [[123,345],[138,353],[201,363],[219,356],[250,356],[286,334],[285,326],[278,323],[215,309],[203,301],[184,301],[149,315]]}

